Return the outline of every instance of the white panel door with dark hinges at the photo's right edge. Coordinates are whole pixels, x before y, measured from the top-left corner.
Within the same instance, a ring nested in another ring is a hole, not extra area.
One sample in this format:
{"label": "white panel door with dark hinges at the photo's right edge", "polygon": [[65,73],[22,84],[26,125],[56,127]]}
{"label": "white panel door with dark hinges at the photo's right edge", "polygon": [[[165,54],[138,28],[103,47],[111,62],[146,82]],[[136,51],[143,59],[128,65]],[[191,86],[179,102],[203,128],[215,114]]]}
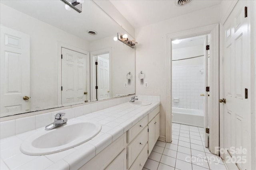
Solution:
{"label": "white panel door with dark hinges at the photo's right edge", "polygon": [[[230,169],[250,168],[250,49],[248,18],[244,16],[247,1],[239,0],[223,25],[223,140],[224,161]],[[222,96],[222,95],[220,95]],[[232,148],[234,147],[234,148]],[[233,152],[233,149],[247,152]],[[254,150],[255,152],[255,150]]]}

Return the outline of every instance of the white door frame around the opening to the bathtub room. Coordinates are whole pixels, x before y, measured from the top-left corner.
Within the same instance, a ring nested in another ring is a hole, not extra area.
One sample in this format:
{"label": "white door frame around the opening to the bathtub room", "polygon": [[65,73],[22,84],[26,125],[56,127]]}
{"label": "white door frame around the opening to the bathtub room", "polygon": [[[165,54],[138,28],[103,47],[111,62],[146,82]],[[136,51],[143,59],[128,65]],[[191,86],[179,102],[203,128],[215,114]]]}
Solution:
{"label": "white door frame around the opening to the bathtub room", "polygon": [[[166,57],[166,142],[172,141],[172,40],[210,34],[210,141],[209,150],[219,154],[219,24],[208,25],[167,35]],[[214,70],[217,70],[214,72]]]}

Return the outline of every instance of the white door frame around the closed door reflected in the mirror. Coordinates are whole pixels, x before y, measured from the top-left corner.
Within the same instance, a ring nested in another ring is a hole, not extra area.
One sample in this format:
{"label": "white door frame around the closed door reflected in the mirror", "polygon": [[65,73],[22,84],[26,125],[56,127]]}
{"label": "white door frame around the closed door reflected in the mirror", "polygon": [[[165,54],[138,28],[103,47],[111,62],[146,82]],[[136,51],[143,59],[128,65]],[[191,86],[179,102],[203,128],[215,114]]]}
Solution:
{"label": "white door frame around the closed door reflected in the mirror", "polygon": [[[86,66],[87,66],[87,70],[88,68],[90,68],[90,55],[88,51],[85,51],[83,49],[74,47],[72,45],[68,45],[62,42],[57,42],[57,107],[62,107],[62,103],[61,103],[61,79],[62,79],[62,73],[61,73],[61,49],[65,48],[65,49],[69,49],[72,51],[76,51],[78,53],[83,53],[85,54],[86,57]],[[87,71],[86,73],[87,75],[87,89],[90,89],[90,71]],[[90,96],[90,90],[87,90],[87,96]],[[90,99],[88,100],[88,102],[90,102]]]}

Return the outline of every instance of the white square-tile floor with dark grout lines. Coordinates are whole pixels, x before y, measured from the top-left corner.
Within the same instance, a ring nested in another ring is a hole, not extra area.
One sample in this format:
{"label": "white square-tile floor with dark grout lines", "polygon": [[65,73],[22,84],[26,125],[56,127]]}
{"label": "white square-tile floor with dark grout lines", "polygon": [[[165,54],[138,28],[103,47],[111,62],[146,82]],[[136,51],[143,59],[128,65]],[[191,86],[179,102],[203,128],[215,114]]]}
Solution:
{"label": "white square-tile floor with dark grout lines", "polygon": [[226,170],[204,147],[204,129],[172,123],[172,143],[157,141],[143,170]]}

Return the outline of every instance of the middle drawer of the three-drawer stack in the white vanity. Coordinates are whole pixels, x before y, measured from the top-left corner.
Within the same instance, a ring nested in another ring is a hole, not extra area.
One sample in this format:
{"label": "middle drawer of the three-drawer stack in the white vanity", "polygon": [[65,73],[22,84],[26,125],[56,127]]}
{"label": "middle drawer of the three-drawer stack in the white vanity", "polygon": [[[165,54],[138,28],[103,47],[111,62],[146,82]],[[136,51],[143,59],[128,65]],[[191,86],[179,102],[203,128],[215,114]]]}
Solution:
{"label": "middle drawer of the three-drawer stack in the white vanity", "polygon": [[144,128],[142,132],[127,147],[127,169],[130,168],[134,160],[140,154],[140,151],[148,141],[148,128]]}

